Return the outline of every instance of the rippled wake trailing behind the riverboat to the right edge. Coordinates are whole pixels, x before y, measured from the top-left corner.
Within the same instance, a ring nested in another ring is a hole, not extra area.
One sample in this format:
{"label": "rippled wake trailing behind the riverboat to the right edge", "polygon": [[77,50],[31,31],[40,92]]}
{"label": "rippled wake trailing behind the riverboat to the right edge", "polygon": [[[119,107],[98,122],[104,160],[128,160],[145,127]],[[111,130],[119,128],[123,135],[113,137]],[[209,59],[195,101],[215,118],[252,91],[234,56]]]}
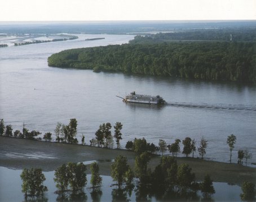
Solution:
{"label": "rippled wake trailing behind the riverboat to the right edge", "polygon": [[243,110],[243,111],[255,111],[255,105],[229,105],[229,104],[205,104],[205,103],[189,103],[189,102],[167,102],[169,106],[176,107],[195,107],[205,109],[220,109],[220,110]]}

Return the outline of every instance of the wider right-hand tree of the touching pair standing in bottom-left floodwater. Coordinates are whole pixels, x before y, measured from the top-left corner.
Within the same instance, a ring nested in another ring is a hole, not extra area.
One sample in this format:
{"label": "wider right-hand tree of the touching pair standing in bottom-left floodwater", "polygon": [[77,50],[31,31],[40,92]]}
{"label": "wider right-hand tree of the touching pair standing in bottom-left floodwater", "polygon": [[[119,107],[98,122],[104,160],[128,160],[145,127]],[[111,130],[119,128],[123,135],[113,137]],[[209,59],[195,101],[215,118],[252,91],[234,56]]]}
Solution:
{"label": "wider right-hand tree of the touching pair standing in bottom-left floodwater", "polygon": [[69,186],[73,192],[81,191],[86,186],[86,165],[83,163],[68,163]]}

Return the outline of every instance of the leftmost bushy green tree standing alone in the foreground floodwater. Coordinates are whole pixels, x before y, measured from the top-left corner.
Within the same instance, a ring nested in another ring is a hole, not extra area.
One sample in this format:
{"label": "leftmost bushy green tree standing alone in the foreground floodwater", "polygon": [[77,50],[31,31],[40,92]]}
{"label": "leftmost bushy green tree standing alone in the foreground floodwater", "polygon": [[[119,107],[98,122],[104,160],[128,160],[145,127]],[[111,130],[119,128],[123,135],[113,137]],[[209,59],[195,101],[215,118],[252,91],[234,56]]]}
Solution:
{"label": "leftmost bushy green tree standing alone in the foreground floodwater", "polygon": [[23,181],[22,192],[24,192],[25,197],[27,196],[40,196],[44,192],[48,191],[46,186],[43,186],[43,181],[45,181],[45,175],[42,173],[40,168],[24,168],[20,177]]}

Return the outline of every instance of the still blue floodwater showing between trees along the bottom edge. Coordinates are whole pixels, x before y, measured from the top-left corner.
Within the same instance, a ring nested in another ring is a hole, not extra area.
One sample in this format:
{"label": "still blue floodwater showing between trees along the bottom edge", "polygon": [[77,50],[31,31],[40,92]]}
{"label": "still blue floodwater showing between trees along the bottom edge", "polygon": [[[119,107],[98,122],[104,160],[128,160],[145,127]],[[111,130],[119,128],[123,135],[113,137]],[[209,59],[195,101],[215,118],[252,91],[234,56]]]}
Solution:
{"label": "still blue floodwater showing between trees along the bottom edge", "polygon": [[[21,174],[22,170],[13,170],[4,167],[0,167],[0,201],[25,201],[24,195],[21,192]],[[46,177],[46,181],[43,183],[48,187],[48,191],[43,196],[43,201],[56,201],[58,195],[54,192],[56,191],[55,182],[54,182],[54,171],[43,172]],[[83,199],[87,198],[87,201],[112,201],[117,199],[114,195],[114,189],[116,186],[113,186],[114,182],[109,176],[101,176],[103,178],[101,186],[101,194],[98,195],[99,200],[95,200],[91,196],[91,186],[90,186],[90,177],[87,175],[87,185],[83,189],[85,195]],[[211,196],[213,201],[241,201],[241,187],[237,185],[228,185],[227,183],[214,182],[215,194]],[[136,187],[135,187],[136,189]],[[135,189],[131,192],[131,195],[124,192],[122,196],[122,201],[128,199],[130,201],[136,201]],[[202,194],[200,191],[197,192],[198,201],[202,199]],[[81,200],[83,201],[83,200]],[[151,197],[151,201],[158,201],[155,196]],[[160,200],[161,201],[161,200]]]}

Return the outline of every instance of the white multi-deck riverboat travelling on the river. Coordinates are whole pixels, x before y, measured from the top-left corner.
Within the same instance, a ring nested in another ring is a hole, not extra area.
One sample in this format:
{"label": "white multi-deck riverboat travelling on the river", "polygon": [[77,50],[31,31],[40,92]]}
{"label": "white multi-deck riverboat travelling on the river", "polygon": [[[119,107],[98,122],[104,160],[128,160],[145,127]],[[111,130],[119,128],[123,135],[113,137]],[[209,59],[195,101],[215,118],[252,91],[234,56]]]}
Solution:
{"label": "white multi-deck riverboat travelling on the river", "polygon": [[165,101],[160,96],[139,95],[135,91],[123,98],[123,102],[134,102],[142,104],[164,105]]}

